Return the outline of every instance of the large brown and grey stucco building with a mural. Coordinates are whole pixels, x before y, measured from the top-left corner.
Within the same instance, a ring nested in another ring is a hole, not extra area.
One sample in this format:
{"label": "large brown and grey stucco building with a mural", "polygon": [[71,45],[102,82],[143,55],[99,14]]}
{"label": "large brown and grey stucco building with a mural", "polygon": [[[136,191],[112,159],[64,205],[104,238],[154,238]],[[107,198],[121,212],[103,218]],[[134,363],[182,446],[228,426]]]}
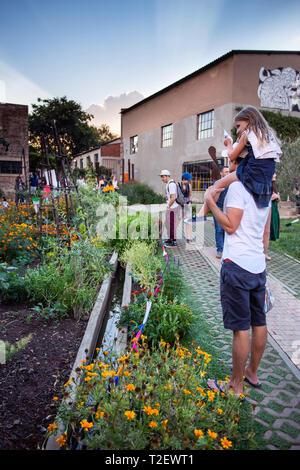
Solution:
{"label": "large brown and grey stucco building with a mural", "polygon": [[122,109],[125,179],[162,192],[161,169],[178,181],[190,171],[201,200],[212,181],[208,148],[214,146],[219,162],[226,163],[224,129],[231,132],[237,108],[250,104],[300,117],[299,71],[300,52],[233,50]]}

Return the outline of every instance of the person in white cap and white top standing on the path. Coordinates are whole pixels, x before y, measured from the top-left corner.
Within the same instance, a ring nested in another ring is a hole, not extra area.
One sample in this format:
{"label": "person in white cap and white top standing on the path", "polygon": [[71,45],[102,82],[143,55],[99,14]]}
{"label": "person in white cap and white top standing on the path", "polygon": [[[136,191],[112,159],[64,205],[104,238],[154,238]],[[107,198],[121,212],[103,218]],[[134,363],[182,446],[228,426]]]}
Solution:
{"label": "person in white cap and white top standing on the path", "polygon": [[177,198],[177,185],[173,179],[169,170],[162,170],[160,172],[161,180],[166,185],[166,199],[167,199],[167,210],[166,210],[166,227],[168,233],[168,240],[164,243],[165,246],[170,248],[177,246],[176,242],[176,229],[178,225],[180,206],[176,202]]}

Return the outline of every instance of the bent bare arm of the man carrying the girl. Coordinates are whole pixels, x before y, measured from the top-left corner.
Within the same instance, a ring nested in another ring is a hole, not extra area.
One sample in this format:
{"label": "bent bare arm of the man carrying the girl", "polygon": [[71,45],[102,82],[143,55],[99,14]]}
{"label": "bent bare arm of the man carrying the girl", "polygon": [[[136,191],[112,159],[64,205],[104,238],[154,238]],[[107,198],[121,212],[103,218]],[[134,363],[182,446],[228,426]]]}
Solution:
{"label": "bent bare arm of the man carrying the girl", "polygon": [[213,187],[208,188],[205,193],[205,202],[225,232],[232,235],[240,225],[244,211],[235,207],[227,207],[226,214],[224,214],[214,201],[212,194],[215,191]]}

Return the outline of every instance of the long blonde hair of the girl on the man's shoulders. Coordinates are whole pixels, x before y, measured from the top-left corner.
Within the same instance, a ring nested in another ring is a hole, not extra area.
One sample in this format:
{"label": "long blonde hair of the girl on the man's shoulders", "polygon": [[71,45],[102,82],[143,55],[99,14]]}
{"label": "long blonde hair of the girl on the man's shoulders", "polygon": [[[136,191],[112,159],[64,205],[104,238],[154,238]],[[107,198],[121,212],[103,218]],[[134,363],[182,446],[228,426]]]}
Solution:
{"label": "long blonde hair of the girl on the man's shoulders", "polygon": [[235,116],[234,122],[237,121],[248,122],[248,128],[256,135],[259,146],[263,146],[270,142],[270,132],[272,132],[277,143],[280,144],[275,131],[269,126],[261,112],[254,106],[246,106],[243,108]]}

